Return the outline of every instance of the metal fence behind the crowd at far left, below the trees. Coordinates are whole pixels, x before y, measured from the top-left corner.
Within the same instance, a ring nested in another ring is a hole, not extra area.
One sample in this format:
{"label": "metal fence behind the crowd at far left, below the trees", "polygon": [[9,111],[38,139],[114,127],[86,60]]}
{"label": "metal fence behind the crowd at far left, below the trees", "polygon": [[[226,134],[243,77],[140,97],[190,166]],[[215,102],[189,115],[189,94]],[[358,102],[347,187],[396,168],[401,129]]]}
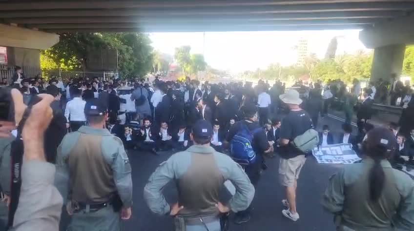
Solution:
{"label": "metal fence behind the crowd at far left, below the trees", "polygon": [[[15,66],[0,65],[0,79],[7,79],[10,84],[14,75]],[[117,76],[117,72],[83,72],[83,71],[62,71],[59,69],[41,69],[40,67],[22,67],[24,77],[40,76],[45,80],[51,77],[62,77],[63,82],[67,82],[70,78],[86,78],[92,79],[98,77],[101,80],[106,80],[112,76]]]}

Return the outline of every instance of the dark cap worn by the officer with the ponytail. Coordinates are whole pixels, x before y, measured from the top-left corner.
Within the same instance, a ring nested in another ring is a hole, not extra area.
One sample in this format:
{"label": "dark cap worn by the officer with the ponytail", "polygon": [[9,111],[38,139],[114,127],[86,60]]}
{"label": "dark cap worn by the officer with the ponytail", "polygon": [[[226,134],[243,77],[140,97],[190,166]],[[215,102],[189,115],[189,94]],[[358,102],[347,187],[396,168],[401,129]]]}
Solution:
{"label": "dark cap worn by the officer with the ponytail", "polygon": [[393,132],[387,128],[376,127],[370,130],[365,140],[370,147],[383,146],[387,151],[393,151],[397,140]]}

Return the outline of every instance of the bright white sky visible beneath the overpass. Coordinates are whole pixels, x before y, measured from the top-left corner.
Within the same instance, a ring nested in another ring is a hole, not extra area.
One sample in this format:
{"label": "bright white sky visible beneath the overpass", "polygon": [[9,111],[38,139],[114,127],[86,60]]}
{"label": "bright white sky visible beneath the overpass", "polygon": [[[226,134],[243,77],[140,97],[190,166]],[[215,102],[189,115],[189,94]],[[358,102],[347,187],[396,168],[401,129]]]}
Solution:
{"label": "bright white sky visible beneath the overpass", "polygon": [[204,54],[209,66],[230,73],[265,69],[271,63],[288,66],[296,63],[298,40],[308,40],[308,53],[323,58],[333,37],[338,38],[336,54],[369,51],[358,39],[359,30],[258,31],[150,33],[152,46],[174,55],[176,47],[189,45],[191,54]]}

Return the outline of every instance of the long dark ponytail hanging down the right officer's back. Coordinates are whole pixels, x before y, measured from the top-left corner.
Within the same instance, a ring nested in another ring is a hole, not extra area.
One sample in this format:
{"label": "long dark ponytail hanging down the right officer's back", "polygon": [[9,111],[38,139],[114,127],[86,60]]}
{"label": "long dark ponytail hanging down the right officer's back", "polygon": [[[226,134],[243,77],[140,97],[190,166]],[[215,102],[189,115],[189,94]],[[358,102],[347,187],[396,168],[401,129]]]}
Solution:
{"label": "long dark ponytail hanging down the right officer's back", "polygon": [[374,158],[374,165],[370,171],[369,181],[371,201],[377,202],[385,183],[385,173],[381,166],[381,158]]}

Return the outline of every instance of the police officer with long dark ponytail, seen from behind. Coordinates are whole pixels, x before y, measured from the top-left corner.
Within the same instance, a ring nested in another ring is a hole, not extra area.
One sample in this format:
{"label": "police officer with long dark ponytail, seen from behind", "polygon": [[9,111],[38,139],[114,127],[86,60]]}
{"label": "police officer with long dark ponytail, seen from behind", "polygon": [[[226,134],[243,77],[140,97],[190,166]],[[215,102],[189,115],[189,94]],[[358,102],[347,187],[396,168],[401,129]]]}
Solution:
{"label": "police officer with long dark ponytail, seen from behind", "polygon": [[395,142],[390,130],[372,129],[362,162],[331,177],[322,205],[335,214],[337,231],[414,230],[414,182],[387,160]]}

